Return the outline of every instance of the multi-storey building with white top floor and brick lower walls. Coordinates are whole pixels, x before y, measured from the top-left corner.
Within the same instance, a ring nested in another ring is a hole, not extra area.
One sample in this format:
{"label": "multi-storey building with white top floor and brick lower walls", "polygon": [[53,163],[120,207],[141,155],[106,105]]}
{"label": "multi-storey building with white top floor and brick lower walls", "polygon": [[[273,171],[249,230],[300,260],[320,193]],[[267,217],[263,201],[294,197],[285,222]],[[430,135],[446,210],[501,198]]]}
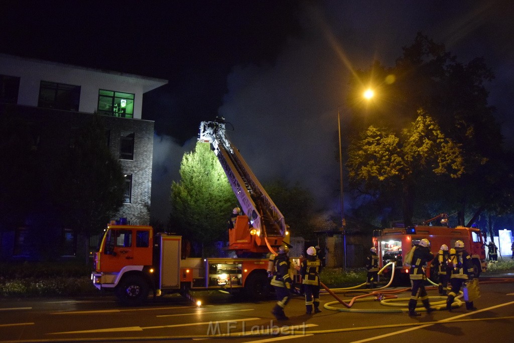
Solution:
{"label": "multi-storey building with white top floor and brick lower walls", "polygon": [[[34,144],[51,160],[59,146],[68,144],[74,131],[95,114],[107,129],[109,150],[119,158],[125,176],[124,204],[116,218],[148,225],[152,185],[154,122],[141,119],[143,94],[167,80],[91,69],[74,65],[0,54],[0,115],[15,108],[30,121]],[[57,134],[56,134],[57,133]],[[2,161],[9,163],[9,161]],[[33,223],[0,227],[0,256],[31,257],[24,246]],[[38,225],[40,228],[41,225]],[[56,232],[58,231],[58,232]],[[51,233],[50,233],[51,232]],[[60,255],[75,255],[76,234],[70,228],[51,228]]]}

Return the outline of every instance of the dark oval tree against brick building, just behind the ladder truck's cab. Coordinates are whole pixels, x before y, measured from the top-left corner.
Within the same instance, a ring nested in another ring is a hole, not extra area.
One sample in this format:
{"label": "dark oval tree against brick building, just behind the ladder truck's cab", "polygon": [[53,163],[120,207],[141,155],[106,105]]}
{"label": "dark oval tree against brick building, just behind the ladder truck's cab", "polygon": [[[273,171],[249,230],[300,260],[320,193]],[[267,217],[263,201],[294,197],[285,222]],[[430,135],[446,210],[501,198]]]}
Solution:
{"label": "dark oval tree against brick building, just behind the ladder truck's cab", "polygon": [[67,227],[77,229],[77,255],[88,256],[89,237],[100,233],[123,205],[125,178],[119,160],[107,146],[98,115],[80,128],[59,168],[53,198]]}

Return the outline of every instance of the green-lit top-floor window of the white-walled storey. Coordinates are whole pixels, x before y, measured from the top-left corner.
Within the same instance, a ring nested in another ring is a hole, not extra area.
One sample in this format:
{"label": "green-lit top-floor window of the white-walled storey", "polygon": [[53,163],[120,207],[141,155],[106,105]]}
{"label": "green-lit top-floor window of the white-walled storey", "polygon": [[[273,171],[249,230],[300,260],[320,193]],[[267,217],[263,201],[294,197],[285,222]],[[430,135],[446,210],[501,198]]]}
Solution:
{"label": "green-lit top-floor window of the white-walled storey", "polygon": [[133,118],[134,94],[107,91],[98,91],[98,113],[106,116]]}

